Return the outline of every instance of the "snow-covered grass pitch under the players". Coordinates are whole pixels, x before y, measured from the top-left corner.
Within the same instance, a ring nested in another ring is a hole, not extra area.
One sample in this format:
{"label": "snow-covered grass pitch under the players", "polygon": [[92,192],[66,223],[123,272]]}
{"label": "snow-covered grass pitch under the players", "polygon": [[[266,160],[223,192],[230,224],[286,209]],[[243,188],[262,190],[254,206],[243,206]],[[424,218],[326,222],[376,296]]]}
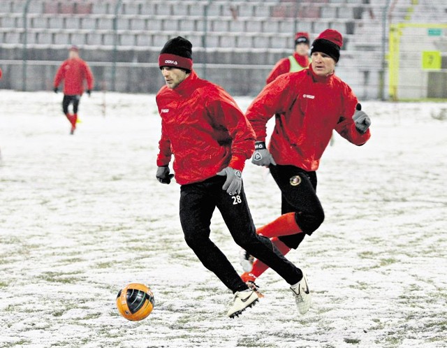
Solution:
{"label": "snow-covered grass pitch under the players", "polygon": [[[102,94],[83,97],[69,136],[61,94],[0,91],[1,347],[446,347],[445,103],[363,103],[372,139],[328,148],[326,220],[289,254],[311,310],[269,270],[265,298],[231,320],[232,295],[182,238],[178,185],[154,178],[154,96],[105,100],[104,117]],[[256,225],[277,217],[272,178],[248,163],[244,178]],[[218,212],[212,230],[240,270]],[[154,291],[144,321],[115,309],[128,282]]]}

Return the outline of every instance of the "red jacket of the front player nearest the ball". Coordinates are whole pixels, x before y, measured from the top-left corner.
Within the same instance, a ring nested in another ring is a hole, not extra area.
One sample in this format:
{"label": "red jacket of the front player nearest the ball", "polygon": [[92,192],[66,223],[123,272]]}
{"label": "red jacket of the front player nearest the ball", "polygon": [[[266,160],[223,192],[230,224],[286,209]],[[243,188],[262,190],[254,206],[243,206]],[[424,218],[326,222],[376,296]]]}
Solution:
{"label": "red jacket of the front player nearest the ball", "polygon": [[175,89],[156,95],[161,116],[157,166],[174,154],[175,180],[201,182],[226,166],[242,171],[254,152],[254,131],[244,113],[221,87],[194,71]]}

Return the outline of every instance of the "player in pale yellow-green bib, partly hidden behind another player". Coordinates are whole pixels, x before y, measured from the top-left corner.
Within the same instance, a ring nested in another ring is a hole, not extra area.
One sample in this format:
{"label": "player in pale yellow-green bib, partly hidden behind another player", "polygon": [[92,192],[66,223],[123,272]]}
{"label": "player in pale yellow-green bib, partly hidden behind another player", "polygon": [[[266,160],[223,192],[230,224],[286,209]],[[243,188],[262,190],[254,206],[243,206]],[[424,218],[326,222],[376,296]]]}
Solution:
{"label": "player in pale yellow-green bib, partly hidden behind another player", "polygon": [[302,71],[310,64],[309,59],[309,34],[305,31],[300,31],[295,34],[295,52],[293,55],[283,58],[277,62],[267,78],[269,84],[279,75],[284,73],[295,73]]}

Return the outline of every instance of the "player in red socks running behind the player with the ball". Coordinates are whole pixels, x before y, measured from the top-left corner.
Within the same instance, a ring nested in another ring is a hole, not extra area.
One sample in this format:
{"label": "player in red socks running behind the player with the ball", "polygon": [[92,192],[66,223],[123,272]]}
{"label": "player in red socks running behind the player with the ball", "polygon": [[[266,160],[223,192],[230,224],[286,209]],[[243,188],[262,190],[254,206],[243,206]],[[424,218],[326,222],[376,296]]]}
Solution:
{"label": "player in red socks running behind the player with the ball", "polygon": [[[311,66],[279,76],[247,109],[246,116],[256,132],[252,162],[270,168],[282,201],[282,215],[256,232],[272,238],[282,254],[296,249],[305,235],[312,235],[323,222],[323,208],[316,196],[316,170],[332,130],[355,145],[365,144],[370,137],[369,117],[356,111],[356,96],[335,75],[342,43],[338,31],[323,31],[312,43]],[[273,115],[276,124],[267,148],[265,124]],[[245,269],[242,280],[254,282],[267,268],[256,260],[251,270]],[[310,305],[310,294],[306,300]]]}

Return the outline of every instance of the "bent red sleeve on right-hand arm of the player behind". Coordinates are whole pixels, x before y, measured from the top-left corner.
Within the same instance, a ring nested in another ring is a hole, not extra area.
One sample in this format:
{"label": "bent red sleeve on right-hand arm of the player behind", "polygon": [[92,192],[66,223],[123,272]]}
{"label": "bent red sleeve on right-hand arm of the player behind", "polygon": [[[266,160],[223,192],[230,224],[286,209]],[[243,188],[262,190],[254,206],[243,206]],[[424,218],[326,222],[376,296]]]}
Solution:
{"label": "bent red sleeve on right-hand arm of the player behind", "polygon": [[351,88],[348,85],[344,85],[342,111],[343,116],[340,117],[337,126],[335,126],[335,130],[339,133],[340,136],[348,140],[350,143],[360,146],[365,144],[369,140],[369,138],[371,137],[371,133],[369,129],[364,134],[360,133],[356,129],[356,124],[354,123],[352,117],[356,112],[357,103],[358,100],[353,94]]}

